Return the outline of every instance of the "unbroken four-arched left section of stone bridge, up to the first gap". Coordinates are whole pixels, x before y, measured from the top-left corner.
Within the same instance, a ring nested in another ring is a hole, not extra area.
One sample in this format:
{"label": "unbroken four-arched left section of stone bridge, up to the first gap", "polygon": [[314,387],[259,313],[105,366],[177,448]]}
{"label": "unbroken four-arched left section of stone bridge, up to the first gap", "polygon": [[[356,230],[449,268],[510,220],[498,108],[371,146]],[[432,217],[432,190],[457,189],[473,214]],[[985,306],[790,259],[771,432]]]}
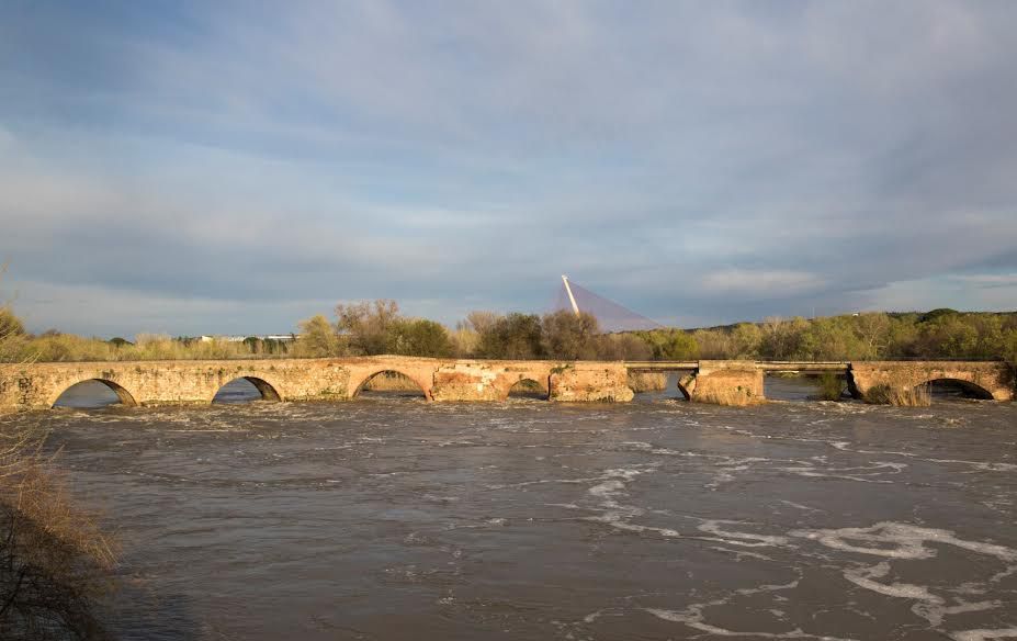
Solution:
{"label": "unbroken four-arched left section of stone bridge, up to the first gap", "polygon": [[630,401],[621,362],[481,361],[411,357],[0,364],[0,413],[53,407],[70,386],[100,381],[125,405],[207,404],[236,379],[271,401],[349,401],[383,372],[429,401],[502,401],[530,381],[550,400]]}

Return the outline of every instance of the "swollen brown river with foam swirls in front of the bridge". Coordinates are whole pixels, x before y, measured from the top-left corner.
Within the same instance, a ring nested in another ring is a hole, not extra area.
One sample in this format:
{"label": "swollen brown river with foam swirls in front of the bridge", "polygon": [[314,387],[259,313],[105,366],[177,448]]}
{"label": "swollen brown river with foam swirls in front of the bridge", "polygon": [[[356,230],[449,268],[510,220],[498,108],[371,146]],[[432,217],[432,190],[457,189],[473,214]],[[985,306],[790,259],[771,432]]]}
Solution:
{"label": "swollen brown river with foam swirls in front of the bridge", "polygon": [[1013,404],[42,419],[120,531],[125,639],[1017,638]]}

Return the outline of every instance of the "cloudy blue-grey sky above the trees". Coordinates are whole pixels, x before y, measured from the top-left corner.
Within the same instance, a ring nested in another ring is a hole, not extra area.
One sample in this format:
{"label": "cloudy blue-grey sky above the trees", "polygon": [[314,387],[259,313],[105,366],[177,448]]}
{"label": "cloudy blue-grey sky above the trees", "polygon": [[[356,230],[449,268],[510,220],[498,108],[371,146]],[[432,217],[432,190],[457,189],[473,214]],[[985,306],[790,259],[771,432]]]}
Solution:
{"label": "cloudy blue-grey sky above the trees", "polygon": [[33,330],[1017,308],[1017,2],[0,4]]}

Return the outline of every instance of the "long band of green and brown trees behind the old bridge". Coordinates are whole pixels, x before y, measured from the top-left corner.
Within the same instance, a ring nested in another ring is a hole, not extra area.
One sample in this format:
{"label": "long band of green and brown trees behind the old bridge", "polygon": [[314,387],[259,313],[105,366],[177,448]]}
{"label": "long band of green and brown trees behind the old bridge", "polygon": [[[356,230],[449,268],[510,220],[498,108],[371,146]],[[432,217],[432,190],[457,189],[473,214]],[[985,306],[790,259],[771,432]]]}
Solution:
{"label": "long band of green and brown trees behind the old bridge", "polygon": [[342,357],[381,353],[553,360],[877,360],[1004,359],[1017,363],[1017,313],[866,313],[823,318],[768,318],[703,329],[604,334],[589,314],[472,312],[455,328],[411,318],[394,301],[339,305],[335,316],[300,323],[294,341],[196,340],[138,335],[102,340],[47,331],[33,336],[10,310],[0,331],[8,360],[100,361]]}

